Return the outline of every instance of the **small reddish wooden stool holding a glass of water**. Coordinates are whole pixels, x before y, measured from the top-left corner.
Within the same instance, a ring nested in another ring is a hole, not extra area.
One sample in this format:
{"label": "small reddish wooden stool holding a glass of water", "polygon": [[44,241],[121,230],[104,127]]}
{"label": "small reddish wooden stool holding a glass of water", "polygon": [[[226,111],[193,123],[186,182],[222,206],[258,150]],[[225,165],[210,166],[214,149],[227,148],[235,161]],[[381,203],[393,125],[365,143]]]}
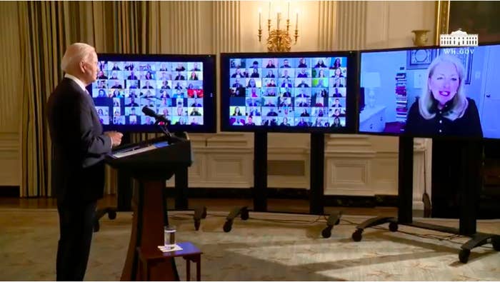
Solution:
{"label": "small reddish wooden stool holding a glass of water", "polygon": [[175,258],[181,256],[186,260],[186,281],[191,279],[191,261],[196,263],[196,281],[201,281],[201,251],[196,248],[190,242],[177,243],[182,250],[180,251],[169,251],[162,252],[157,247],[152,249],[141,250],[141,247],[137,247],[137,253],[139,253],[139,267],[142,267],[142,280],[150,281],[149,272],[151,270],[151,264],[158,261],[163,261],[166,258]]}

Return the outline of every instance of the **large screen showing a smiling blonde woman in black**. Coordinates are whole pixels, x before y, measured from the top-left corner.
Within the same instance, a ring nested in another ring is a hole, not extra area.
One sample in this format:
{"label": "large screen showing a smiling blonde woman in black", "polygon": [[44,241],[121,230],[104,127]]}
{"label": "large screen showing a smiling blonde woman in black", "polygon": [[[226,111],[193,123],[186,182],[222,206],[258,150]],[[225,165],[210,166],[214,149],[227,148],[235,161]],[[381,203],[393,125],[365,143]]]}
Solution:
{"label": "large screen showing a smiling blonde woman in black", "polygon": [[360,133],[500,139],[499,44],[360,58]]}

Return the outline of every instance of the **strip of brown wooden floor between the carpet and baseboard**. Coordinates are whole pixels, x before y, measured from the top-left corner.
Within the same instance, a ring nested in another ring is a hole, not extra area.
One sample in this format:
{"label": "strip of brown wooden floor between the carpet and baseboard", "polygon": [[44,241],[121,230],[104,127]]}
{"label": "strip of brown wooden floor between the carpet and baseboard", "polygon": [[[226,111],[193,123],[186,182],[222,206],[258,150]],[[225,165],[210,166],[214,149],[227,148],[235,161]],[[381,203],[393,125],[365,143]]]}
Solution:
{"label": "strip of brown wooden floor between the carpet and baseboard", "polygon": [[[0,208],[56,208],[54,198],[0,198]],[[167,201],[169,207],[174,207],[173,199]],[[98,203],[98,208],[116,206],[116,196],[105,196]],[[206,206],[208,211],[231,211],[236,206],[248,206],[253,208],[251,199],[234,198],[190,198],[189,208]],[[273,199],[267,201],[268,211],[284,213],[309,213],[309,201],[295,199]],[[170,208],[169,208],[170,209]],[[347,207],[325,207],[325,213],[331,211],[342,211],[344,214],[367,215],[367,216],[396,216],[397,208],[375,207],[375,208],[347,208]]]}

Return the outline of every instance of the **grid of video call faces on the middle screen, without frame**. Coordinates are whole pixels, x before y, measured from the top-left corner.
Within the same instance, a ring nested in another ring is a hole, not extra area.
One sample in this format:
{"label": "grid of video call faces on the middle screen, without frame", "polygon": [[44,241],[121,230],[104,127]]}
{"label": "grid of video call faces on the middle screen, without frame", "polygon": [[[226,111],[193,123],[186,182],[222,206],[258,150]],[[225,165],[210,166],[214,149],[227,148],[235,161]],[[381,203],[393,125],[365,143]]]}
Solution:
{"label": "grid of video call faces on the middle screen, without frame", "polygon": [[346,125],[346,57],[230,59],[229,64],[230,125]]}

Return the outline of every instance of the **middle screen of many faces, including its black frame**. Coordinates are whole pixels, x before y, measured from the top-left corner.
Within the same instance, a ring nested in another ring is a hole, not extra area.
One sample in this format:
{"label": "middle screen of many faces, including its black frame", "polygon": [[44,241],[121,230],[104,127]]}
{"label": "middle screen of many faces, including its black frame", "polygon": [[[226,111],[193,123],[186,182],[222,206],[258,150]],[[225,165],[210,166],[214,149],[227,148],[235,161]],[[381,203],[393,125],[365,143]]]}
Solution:
{"label": "middle screen of many faces, including its black frame", "polygon": [[356,53],[221,54],[223,131],[355,131]]}

